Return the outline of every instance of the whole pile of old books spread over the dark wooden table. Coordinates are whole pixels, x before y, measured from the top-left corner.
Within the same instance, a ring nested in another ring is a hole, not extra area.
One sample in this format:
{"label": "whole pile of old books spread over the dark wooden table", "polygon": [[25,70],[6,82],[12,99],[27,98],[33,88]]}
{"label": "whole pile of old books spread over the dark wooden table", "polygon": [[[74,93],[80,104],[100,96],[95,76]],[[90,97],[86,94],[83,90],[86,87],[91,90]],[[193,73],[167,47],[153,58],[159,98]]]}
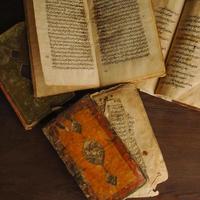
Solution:
{"label": "whole pile of old books spread over the dark wooden table", "polygon": [[24,7],[0,35],[0,87],[25,129],[60,112],[43,132],[88,199],[158,195],[168,172],[138,89],[200,109],[200,1]]}

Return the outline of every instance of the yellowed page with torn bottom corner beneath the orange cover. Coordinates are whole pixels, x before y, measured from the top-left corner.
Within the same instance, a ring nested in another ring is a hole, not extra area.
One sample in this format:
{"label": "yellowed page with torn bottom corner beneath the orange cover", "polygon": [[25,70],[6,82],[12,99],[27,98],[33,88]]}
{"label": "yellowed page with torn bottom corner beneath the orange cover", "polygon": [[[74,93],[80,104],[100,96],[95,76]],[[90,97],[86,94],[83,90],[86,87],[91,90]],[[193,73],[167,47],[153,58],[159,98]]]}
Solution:
{"label": "yellowed page with torn bottom corner beneath the orange cover", "polygon": [[91,97],[148,177],[147,183],[130,197],[158,195],[156,186],[167,180],[168,172],[135,86],[117,86]]}

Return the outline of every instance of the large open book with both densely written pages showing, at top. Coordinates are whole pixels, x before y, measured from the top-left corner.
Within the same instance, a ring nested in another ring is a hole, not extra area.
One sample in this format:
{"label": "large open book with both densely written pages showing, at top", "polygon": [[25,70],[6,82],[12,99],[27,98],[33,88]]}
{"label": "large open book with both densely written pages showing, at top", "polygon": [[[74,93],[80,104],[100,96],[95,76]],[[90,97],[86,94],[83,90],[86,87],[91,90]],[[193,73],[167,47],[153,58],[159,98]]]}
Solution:
{"label": "large open book with both densely written pages showing, at top", "polygon": [[151,0],[24,4],[36,96],[165,74]]}

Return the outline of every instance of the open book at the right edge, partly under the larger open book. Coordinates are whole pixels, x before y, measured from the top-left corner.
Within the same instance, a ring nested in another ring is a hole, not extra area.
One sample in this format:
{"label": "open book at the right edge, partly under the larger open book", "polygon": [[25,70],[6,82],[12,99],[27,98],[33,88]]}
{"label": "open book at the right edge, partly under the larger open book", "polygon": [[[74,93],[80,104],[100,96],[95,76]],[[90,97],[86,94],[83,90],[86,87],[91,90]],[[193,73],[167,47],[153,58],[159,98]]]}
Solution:
{"label": "open book at the right edge, partly under the larger open book", "polygon": [[200,1],[153,0],[167,76],[139,84],[150,94],[200,108]]}

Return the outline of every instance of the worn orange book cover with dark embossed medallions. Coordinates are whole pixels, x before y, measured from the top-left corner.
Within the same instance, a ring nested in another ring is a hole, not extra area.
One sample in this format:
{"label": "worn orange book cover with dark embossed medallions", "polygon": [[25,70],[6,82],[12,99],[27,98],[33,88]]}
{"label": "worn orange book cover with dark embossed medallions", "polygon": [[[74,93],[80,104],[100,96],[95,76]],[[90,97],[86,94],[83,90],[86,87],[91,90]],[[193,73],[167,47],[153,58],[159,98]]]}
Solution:
{"label": "worn orange book cover with dark embossed medallions", "polygon": [[146,182],[90,97],[81,99],[43,131],[89,199],[120,200]]}

